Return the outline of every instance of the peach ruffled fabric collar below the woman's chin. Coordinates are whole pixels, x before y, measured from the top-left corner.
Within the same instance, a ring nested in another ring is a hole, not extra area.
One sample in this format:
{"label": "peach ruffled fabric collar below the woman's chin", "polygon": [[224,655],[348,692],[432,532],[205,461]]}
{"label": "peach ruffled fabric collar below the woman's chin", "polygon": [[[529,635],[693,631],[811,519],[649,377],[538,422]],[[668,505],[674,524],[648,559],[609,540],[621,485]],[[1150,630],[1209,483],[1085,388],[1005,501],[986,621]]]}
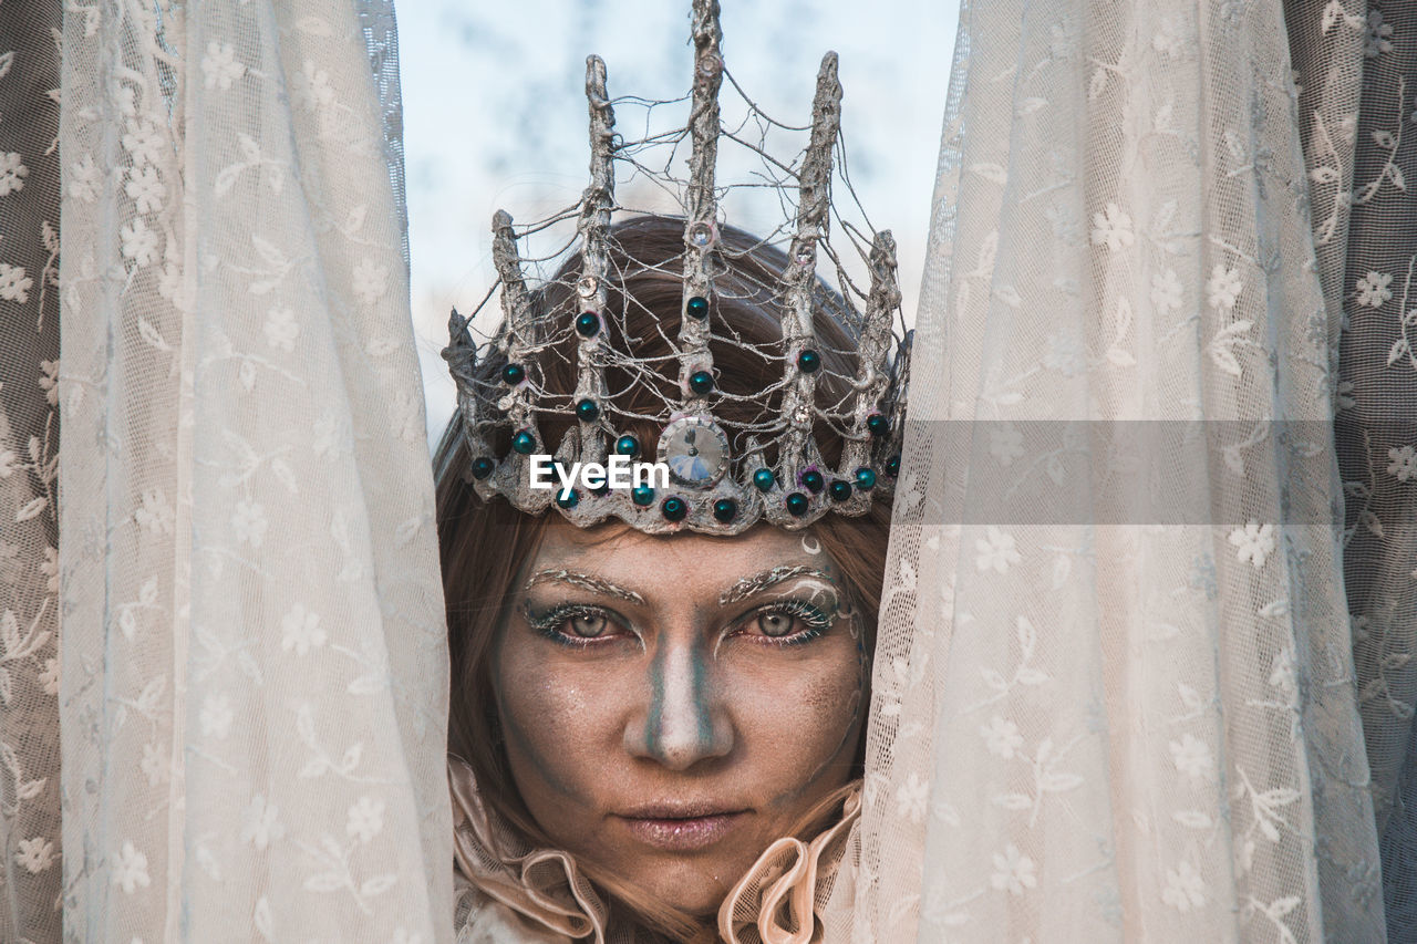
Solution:
{"label": "peach ruffled fabric collar below the woman's chin", "polygon": [[[448,758],[448,788],[456,867],[468,883],[551,934],[591,938],[595,944],[623,937],[611,934],[609,909],[570,853],[530,846],[487,809],[466,761]],[[728,944],[819,941],[816,913],[860,811],[862,791],[856,784],[843,802],[842,818],[815,839],[784,836],[769,845],[718,909],[723,940]]]}

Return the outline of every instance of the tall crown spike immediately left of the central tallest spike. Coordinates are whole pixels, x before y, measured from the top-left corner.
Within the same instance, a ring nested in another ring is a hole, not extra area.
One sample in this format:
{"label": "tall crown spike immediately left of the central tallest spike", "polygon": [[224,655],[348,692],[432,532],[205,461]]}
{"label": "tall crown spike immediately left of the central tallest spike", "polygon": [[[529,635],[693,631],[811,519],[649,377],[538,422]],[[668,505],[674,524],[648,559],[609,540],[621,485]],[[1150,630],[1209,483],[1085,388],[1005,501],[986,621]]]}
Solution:
{"label": "tall crown spike immediately left of the central tallest spike", "polygon": [[581,278],[575,283],[580,309],[575,318],[577,347],[575,404],[580,420],[580,455],[602,461],[606,454],[606,400],[604,346],[606,276],[609,252],[606,234],[615,206],[615,109],[605,89],[605,61],[598,55],[585,60],[585,101],[591,119],[591,186],[581,198]]}

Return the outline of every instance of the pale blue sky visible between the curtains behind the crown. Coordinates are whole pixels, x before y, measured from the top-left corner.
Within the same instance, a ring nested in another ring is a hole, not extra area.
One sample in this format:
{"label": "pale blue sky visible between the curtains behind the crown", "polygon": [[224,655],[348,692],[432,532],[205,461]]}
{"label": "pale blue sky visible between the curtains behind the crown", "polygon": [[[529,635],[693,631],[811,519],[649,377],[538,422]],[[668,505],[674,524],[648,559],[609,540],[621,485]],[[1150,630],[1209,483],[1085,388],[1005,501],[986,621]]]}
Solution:
{"label": "pale blue sky visible between the curtains behind the crown", "polygon": [[[721,0],[724,61],[760,108],[811,120],[822,54],[840,54],[842,132],[852,183],[877,228],[894,232],[907,320],[914,320],[941,118],[955,44],[955,0]],[[453,408],[438,352],[448,309],[469,312],[495,281],[490,220],[530,223],[588,183],[585,57],[608,67],[611,96],[689,91],[689,3],[677,0],[407,0],[398,6],[414,329],[431,441]],[[724,119],[731,115],[724,82]],[[657,115],[659,112],[656,112]],[[682,109],[687,115],[687,109]],[[665,109],[680,120],[680,112]],[[621,108],[638,136],[645,113]],[[789,145],[784,157],[791,157]],[[687,153],[687,152],[686,152]],[[720,164],[720,183],[726,170]],[[625,197],[622,191],[622,198]],[[836,201],[842,193],[833,194]],[[750,231],[778,214],[730,213]],[[495,303],[485,309],[495,312]],[[489,323],[479,316],[478,323]]]}

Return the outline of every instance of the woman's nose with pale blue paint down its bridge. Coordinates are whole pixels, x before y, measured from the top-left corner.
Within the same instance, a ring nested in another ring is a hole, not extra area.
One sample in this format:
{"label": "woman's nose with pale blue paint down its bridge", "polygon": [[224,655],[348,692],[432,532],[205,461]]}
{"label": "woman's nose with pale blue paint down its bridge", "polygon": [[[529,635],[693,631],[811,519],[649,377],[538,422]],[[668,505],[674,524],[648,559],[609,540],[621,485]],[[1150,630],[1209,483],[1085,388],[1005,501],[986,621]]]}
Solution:
{"label": "woman's nose with pale blue paint down its bridge", "polygon": [[700,642],[659,641],[649,666],[645,712],[625,726],[625,750],[674,771],[733,750],[733,721]]}

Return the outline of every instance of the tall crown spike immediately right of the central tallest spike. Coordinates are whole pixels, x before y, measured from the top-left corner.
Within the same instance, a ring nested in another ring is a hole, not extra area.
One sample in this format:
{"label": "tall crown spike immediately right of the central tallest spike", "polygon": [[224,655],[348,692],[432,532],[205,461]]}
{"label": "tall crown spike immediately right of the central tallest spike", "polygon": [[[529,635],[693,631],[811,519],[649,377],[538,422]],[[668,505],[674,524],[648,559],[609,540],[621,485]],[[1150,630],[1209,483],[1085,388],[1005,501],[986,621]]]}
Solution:
{"label": "tall crown spike immediately right of the central tallest spike", "polygon": [[786,394],[782,411],[788,428],[782,437],[779,462],[784,473],[796,478],[799,466],[809,465],[806,455],[812,437],[816,404],[816,370],[820,352],[815,349],[812,296],[816,288],[816,242],[826,238],[832,208],[832,149],[842,128],[842,84],[836,78],[836,52],[822,57],[812,99],[812,139],[798,174],[798,221],[792,235],[792,254],[784,274],[786,315],[782,340],[786,353]]}

